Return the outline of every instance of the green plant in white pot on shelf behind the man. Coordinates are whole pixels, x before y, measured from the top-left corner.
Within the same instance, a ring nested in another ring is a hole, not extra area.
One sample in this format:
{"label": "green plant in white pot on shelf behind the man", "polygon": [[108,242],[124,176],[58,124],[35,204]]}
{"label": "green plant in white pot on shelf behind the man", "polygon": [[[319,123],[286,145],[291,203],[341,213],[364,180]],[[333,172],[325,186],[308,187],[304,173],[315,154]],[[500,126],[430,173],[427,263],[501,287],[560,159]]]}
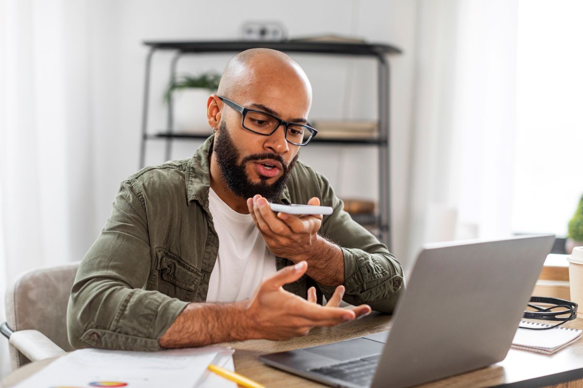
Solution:
{"label": "green plant in white pot on shelf behind the man", "polygon": [[213,72],[199,76],[182,75],[171,81],[164,100],[172,98],[174,127],[178,132],[204,133],[206,101],[219,87],[220,75]]}

